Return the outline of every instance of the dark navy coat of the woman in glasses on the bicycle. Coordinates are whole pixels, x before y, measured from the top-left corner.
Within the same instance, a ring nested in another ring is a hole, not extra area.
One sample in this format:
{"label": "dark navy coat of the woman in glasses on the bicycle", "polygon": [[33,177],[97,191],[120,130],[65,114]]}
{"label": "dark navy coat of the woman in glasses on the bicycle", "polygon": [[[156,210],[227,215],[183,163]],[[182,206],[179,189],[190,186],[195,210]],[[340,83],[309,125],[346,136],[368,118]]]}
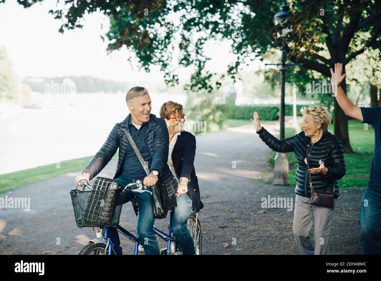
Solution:
{"label": "dark navy coat of the woman in glasses on the bicycle", "polygon": [[172,163],[179,179],[181,177],[188,179],[187,194],[192,200],[194,212],[197,213],[203,208],[203,204],[200,200],[199,183],[193,165],[195,154],[196,138],[190,132],[182,131],[177,136],[172,150]]}

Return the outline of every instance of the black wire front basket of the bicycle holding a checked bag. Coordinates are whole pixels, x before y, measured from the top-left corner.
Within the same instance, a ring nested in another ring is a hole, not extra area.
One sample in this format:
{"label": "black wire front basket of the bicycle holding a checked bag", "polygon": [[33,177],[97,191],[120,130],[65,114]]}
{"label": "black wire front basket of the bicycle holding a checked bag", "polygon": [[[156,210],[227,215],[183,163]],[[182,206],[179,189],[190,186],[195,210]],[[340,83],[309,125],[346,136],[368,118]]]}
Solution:
{"label": "black wire front basket of the bicycle holding a checked bag", "polygon": [[[86,186],[90,188],[90,184],[86,183]],[[73,189],[69,192],[77,226],[116,226],[119,224],[122,205],[116,205],[116,197],[120,194],[118,182],[113,179],[96,177],[91,190]]]}

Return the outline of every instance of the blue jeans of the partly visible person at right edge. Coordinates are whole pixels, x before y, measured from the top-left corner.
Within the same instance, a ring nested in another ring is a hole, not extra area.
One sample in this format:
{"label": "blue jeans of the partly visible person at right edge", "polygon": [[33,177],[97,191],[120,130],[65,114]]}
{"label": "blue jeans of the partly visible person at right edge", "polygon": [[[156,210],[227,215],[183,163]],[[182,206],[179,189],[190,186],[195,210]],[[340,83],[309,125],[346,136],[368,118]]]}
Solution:
{"label": "blue jeans of the partly visible person at right edge", "polygon": [[[366,200],[366,201],[365,201]],[[381,192],[367,187],[361,202],[360,244],[365,255],[381,254]]]}

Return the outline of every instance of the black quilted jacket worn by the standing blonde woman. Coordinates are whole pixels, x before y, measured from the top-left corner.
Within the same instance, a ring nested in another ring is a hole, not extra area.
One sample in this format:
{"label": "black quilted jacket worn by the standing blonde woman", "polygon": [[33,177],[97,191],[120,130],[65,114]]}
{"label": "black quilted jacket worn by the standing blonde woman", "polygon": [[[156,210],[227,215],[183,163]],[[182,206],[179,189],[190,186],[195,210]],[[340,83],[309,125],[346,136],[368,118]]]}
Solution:
{"label": "black quilted jacket worn by the standing blonde woman", "polygon": [[[311,145],[310,137],[306,137],[304,131],[287,139],[278,140],[262,127],[257,131],[259,137],[274,151],[294,152],[298,168],[296,169],[295,193],[304,197],[311,197],[307,163],[305,162],[307,145],[309,148],[310,168],[319,168],[319,160],[328,168],[327,174],[311,174],[312,186],[317,191],[332,192],[335,184],[335,198],[339,197],[337,181],[345,174],[343,145],[341,141],[328,130],[323,132],[320,140]],[[307,192],[307,194],[306,194]]]}

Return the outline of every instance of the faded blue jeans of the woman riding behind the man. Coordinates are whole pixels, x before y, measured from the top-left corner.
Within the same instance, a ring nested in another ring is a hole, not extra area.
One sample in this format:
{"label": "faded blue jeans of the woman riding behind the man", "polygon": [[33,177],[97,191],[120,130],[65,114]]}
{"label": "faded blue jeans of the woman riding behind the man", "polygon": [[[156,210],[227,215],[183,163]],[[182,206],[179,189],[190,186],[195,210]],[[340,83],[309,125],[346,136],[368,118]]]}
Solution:
{"label": "faded blue jeans of the woman riding behind the man", "polygon": [[183,255],[195,255],[193,239],[187,228],[187,221],[192,212],[192,200],[188,194],[176,197],[177,207],[174,208],[172,233],[182,247]]}

